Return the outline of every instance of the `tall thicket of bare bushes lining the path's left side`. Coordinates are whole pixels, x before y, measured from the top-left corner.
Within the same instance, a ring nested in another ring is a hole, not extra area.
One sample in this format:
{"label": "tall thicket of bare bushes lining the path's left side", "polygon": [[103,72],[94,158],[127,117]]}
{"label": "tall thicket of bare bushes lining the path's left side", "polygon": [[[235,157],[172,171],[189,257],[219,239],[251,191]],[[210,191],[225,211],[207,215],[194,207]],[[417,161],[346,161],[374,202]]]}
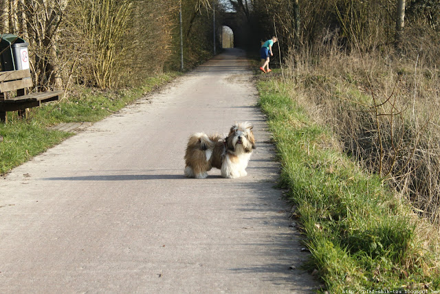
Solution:
{"label": "tall thicket of bare bushes lining the path's left side", "polygon": [[[212,6],[183,1],[186,68],[212,56]],[[139,85],[180,67],[179,1],[4,0],[0,30],[30,43],[37,88]]]}

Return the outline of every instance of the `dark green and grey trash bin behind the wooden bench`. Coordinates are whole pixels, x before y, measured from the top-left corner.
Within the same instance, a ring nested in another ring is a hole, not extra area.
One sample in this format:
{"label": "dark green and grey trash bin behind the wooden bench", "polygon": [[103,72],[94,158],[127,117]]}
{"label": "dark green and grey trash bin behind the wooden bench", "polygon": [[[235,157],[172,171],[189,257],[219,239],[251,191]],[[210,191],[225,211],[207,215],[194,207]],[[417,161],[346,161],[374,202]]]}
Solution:
{"label": "dark green and grey trash bin behind the wooden bench", "polygon": [[28,45],[25,40],[14,34],[0,35],[1,71],[27,70],[29,68]]}

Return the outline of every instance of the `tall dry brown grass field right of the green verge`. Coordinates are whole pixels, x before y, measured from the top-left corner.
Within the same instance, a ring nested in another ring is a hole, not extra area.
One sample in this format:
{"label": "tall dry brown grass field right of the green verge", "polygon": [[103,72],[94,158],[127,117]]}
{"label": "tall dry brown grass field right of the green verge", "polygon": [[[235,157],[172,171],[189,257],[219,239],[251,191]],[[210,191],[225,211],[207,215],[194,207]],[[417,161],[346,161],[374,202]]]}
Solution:
{"label": "tall dry brown grass field right of the green verge", "polygon": [[413,34],[406,50],[314,46],[292,54],[283,78],[347,154],[440,226],[440,50],[432,37]]}

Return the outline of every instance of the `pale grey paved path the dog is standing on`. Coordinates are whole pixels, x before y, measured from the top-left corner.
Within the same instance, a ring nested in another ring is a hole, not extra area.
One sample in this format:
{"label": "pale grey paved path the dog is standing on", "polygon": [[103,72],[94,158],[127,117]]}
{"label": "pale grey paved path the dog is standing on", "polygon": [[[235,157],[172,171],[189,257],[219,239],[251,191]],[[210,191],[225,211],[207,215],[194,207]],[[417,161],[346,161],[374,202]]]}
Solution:
{"label": "pale grey paved path the dog is standing on", "polygon": [[[0,179],[0,293],[310,293],[239,50]],[[192,132],[254,124],[248,176],[184,178]]]}

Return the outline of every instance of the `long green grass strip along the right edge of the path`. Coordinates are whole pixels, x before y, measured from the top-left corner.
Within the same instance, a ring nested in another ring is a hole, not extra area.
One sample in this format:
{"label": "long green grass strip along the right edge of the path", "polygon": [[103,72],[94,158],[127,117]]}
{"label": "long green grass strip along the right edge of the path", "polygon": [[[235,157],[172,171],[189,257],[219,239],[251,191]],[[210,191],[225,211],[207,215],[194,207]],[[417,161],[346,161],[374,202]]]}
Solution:
{"label": "long green grass strip along the right edge of the path", "polygon": [[276,78],[259,81],[260,105],[282,164],[281,185],[307,235],[309,269],[330,293],[440,288],[418,221],[377,176],[334,148],[333,134],[312,123]]}

